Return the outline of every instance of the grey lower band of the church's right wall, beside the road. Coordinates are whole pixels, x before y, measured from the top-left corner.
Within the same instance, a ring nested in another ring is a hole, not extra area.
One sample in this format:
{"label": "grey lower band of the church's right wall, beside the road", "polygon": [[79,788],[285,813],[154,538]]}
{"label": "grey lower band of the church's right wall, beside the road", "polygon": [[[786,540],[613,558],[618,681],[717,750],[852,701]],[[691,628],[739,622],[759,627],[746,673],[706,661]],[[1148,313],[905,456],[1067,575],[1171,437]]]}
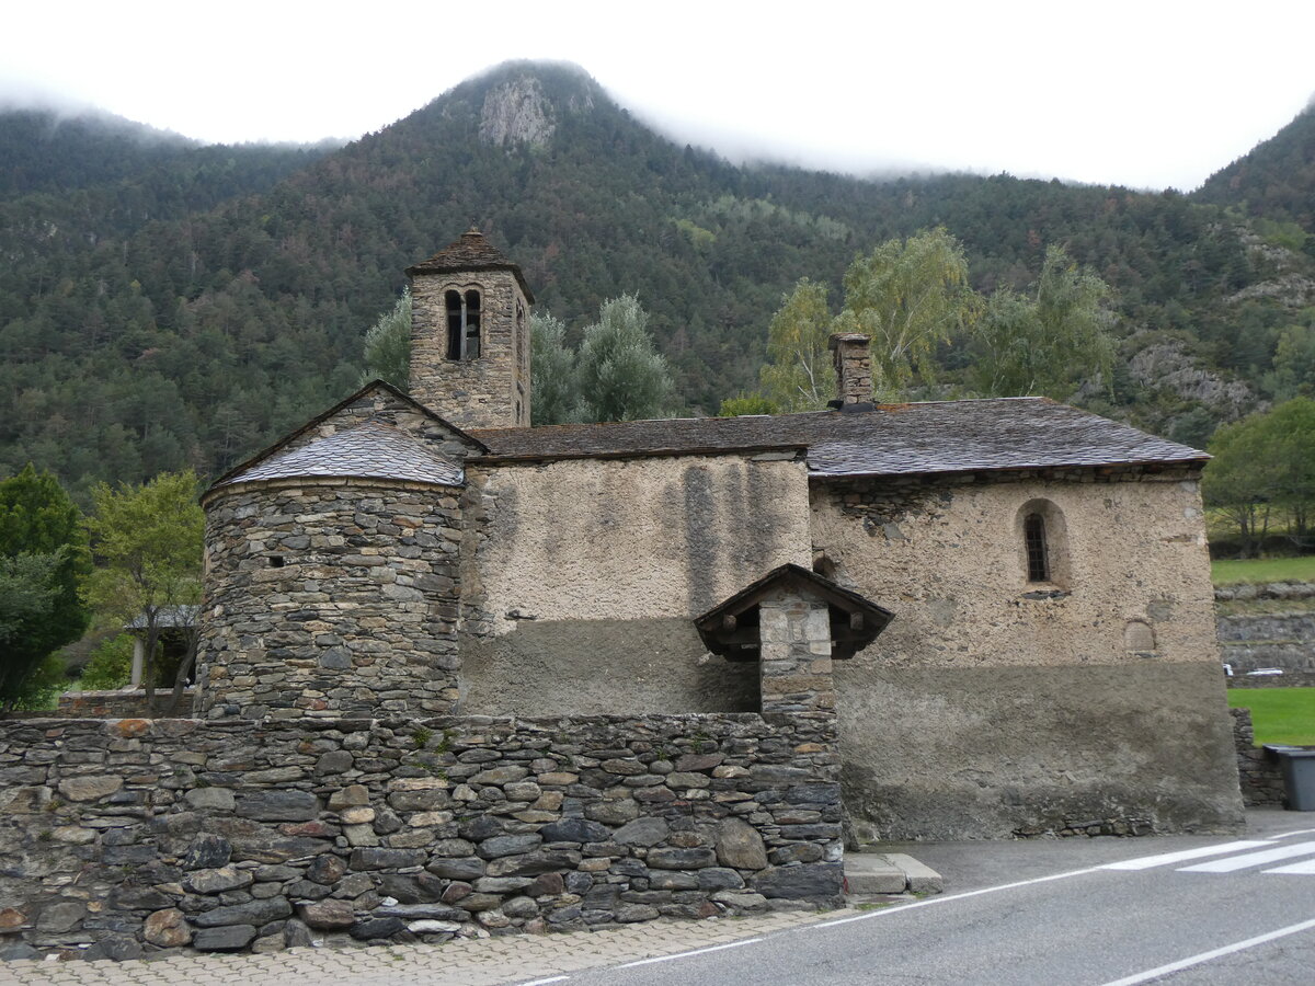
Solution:
{"label": "grey lower band of the church's right wall, beside the road", "polygon": [[836,669],[857,837],[1228,832],[1243,824],[1215,664]]}

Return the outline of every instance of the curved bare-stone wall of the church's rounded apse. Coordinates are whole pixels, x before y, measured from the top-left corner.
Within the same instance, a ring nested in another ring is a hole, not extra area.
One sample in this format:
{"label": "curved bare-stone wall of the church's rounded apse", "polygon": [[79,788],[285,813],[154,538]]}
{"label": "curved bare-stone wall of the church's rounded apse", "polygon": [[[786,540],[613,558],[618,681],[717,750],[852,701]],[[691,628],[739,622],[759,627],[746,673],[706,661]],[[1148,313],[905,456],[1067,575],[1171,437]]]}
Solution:
{"label": "curved bare-stone wall of the church's rounded apse", "polygon": [[302,480],[212,498],[196,711],[452,711],[459,496]]}

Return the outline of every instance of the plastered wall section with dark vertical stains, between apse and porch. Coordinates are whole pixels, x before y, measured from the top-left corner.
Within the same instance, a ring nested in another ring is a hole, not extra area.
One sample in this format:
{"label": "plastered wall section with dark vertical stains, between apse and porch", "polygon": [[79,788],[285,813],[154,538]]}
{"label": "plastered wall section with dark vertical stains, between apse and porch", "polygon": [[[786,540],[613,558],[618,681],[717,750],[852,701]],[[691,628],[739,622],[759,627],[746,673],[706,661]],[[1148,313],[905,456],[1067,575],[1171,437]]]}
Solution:
{"label": "plastered wall section with dark vertical stains, between apse and porch", "polygon": [[462,707],[523,715],[748,711],[757,668],[692,619],[807,564],[807,477],[775,456],[475,467]]}

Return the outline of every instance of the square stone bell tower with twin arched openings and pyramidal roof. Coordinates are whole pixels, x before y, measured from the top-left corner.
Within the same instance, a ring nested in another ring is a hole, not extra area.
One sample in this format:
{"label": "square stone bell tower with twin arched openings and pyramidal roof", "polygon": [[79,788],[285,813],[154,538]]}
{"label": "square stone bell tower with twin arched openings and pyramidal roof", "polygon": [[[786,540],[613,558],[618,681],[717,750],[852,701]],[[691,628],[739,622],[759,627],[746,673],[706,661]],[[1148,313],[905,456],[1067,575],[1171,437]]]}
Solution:
{"label": "square stone bell tower with twin arched openings and pyramidal roof", "polygon": [[471,227],[406,275],[412,397],[458,427],[527,427],[534,296],[521,268]]}

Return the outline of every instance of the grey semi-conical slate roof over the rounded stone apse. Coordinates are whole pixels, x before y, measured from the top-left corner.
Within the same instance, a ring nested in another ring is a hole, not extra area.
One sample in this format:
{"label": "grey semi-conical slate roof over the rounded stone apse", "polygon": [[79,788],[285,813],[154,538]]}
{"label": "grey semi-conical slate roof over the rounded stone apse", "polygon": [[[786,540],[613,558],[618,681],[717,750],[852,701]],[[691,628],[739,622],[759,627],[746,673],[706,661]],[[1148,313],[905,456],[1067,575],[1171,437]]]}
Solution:
{"label": "grey semi-conical slate roof over the rounded stone apse", "polygon": [[371,419],[309,444],[275,452],[250,469],[230,475],[216,488],[305,476],[409,480],[444,486],[458,486],[464,480],[460,465],[405,431]]}

